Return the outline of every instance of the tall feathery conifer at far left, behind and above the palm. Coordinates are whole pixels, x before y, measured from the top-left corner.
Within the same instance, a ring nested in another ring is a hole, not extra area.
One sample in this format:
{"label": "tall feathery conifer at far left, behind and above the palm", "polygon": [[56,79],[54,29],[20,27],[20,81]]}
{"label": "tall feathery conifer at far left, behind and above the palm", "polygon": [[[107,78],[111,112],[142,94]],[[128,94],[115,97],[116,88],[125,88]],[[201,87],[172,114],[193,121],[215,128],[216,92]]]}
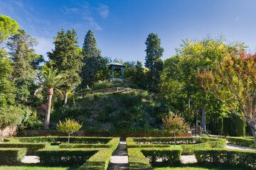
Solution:
{"label": "tall feathery conifer at far left, behind and above the palm", "polygon": [[14,72],[12,72],[13,79],[28,78],[33,74],[31,63],[40,57],[36,55],[33,49],[38,42],[31,35],[26,33],[26,30],[18,30],[18,33],[7,42],[11,55]]}

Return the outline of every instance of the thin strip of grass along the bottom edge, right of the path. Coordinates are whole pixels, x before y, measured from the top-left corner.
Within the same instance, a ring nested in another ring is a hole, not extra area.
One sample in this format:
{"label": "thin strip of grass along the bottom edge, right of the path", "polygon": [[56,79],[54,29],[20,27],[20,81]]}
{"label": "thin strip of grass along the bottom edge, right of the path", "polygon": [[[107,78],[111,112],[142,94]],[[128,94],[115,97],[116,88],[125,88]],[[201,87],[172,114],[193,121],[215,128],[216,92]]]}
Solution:
{"label": "thin strip of grass along the bottom edge, right of the path", "polygon": [[245,167],[221,166],[221,165],[200,165],[200,164],[183,164],[178,167],[155,167],[155,170],[245,170]]}

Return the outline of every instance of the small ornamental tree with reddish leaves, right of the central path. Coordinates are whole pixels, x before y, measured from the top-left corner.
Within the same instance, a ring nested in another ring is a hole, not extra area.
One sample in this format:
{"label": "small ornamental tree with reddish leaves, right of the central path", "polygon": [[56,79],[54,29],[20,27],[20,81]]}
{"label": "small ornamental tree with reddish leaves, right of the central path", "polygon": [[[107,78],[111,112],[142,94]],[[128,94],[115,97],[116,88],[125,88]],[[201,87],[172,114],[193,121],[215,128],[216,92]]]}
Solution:
{"label": "small ornamental tree with reddish leaves, right of the central path", "polygon": [[176,114],[169,113],[163,120],[163,127],[166,132],[174,135],[174,147],[176,147],[176,135],[189,130],[189,124]]}

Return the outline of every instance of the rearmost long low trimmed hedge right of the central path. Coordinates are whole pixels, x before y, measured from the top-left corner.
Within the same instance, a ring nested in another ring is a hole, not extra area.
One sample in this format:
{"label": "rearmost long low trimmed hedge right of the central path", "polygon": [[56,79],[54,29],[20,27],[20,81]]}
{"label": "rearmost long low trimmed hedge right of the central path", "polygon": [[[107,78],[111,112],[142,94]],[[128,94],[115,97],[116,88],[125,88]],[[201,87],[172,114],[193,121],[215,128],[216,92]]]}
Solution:
{"label": "rearmost long low trimmed hedge right of the central path", "polygon": [[[176,137],[176,144],[198,144],[208,142],[210,147],[226,146],[226,142],[213,137]],[[174,145],[174,137],[127,137],[127,147],[166,147]]]}

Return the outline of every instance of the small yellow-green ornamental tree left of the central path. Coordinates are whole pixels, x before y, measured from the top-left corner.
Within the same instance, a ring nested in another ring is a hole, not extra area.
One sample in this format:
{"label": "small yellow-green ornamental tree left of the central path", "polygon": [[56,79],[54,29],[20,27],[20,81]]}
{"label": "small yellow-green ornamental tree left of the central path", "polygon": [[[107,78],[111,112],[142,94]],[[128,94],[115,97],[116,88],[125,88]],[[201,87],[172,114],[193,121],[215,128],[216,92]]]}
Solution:
{"label": "small yellow-green ornamental tree left of the central path", "polygon": [[77,132],[78,130],[80,130],[80,128],[82,128],[82,125],[79,124],[78,121],[75,121],[74,119],[70,120],[70,119],[65,119],[65,122],[59,122],[59,124],[57,124],[57,130],[59,132],[65,132],[68,133],[68,143],[70,141],[70,134],[73,134],[73,132]]}

